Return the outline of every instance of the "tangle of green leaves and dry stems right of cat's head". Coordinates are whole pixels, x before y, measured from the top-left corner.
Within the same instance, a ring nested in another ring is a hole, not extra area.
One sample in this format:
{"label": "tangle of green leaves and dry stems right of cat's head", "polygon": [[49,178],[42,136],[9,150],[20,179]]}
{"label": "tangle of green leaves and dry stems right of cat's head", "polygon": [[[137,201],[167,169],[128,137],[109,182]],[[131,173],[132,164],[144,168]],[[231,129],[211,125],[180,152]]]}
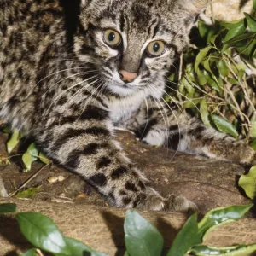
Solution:
{"label": "tangle of green leaves and dry stems right of cat's head", "polygon": [[[199,20],[192,42],[172,73],[166,101],[176,100],[207,126],[256,143],[256,18]],[[173,93],[177,93],[177,96]],[[255,141],[254,141],[255,140]]]}

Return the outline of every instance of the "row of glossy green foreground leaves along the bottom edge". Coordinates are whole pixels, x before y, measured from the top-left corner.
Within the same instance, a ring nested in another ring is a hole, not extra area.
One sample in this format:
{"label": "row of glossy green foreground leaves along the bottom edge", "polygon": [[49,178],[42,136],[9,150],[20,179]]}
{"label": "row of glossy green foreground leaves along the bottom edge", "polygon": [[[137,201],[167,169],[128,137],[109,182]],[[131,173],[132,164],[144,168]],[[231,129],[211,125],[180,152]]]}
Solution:
{"label": "row of glossy green foreground leaves along the bottom edge", "polygon": [[[207,247],[201,245],[205,236],[219,224],[236,221],[252,207],[221,207],[207,212],[197,222],[197,214],[191,216],[183,229],[179,231],[170,250],[165,253],[164,239],[160,231],[134,210],[128,210],[125,217],[126,256],[184,256],[189,253],[197,256],[226,255],[242,256],[256,251],[256,245],[237,245],[234,247]],[[61,256],[107,256],[92,250],[90,247],[73,238],[63,236],[54,222],[41,213],[16,212],[15,204],[0,205],[0,214],[15,213],[21,233],[36,248],[53,255]],[[37,250],[32,248],[23,256],[36,256]]]}

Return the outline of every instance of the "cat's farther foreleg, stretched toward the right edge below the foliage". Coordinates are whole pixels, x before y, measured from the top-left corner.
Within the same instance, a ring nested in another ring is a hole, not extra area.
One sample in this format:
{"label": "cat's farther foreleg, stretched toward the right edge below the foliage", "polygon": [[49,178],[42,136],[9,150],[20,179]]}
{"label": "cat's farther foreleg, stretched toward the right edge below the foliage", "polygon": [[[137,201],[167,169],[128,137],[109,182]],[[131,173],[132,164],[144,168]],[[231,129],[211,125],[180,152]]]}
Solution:
{"label": "cat's farther foreleg, stretched toward the right edge below the foliage", "polygon": [[256,152],[247,143],[207,127],[187,113],[172,110],[165,102],[142,105],[125,126],[151,145],[166,145],[174,150],[241,164],[256,162]]}

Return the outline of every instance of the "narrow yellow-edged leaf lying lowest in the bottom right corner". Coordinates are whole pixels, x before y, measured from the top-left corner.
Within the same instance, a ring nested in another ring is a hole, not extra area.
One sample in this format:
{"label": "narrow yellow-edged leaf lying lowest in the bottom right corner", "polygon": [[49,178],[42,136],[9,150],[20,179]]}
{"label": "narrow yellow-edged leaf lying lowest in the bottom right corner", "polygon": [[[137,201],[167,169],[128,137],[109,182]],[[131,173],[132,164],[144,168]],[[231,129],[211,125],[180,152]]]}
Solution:
{"label": "narrow yellow-edged leaf lying lowest in the bottom right corner", "polygon": [[195,246],[190,251],[190,254],[196,256],[210,256],[210,255],[222,255],[222,256],[245,256],[248,253],[256,251],[256,245],[239,245],[234,247],[207,247],[207,246]]}

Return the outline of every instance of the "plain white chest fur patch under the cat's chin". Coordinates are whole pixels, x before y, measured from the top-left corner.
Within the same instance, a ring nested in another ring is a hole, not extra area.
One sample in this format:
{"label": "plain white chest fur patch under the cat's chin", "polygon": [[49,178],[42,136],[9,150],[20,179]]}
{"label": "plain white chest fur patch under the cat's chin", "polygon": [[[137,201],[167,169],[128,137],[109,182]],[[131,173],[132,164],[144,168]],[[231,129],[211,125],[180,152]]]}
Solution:
{"label": "plain white chest fur patch under the cat's chin", "polygon": [[143,103],[144,96],[137,95],[124,99],[109,98],[108,111],[113,124],[119,125],[130,119],[132,113],[136,112]]}

